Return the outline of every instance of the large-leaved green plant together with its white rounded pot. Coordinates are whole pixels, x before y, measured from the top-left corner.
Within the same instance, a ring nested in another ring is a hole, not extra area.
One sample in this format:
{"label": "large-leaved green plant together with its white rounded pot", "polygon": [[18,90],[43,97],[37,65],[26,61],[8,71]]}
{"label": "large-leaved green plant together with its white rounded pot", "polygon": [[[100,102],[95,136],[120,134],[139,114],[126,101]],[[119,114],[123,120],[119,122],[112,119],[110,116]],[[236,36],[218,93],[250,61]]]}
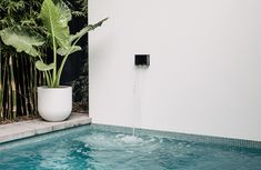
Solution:
{"label": "large-leaved green plant together with its white rounded pot", "polygon": [[[0,31],[0,36],[7,46],[12,46],[18,52],[38,58],[36,68],[43,71],[48,84],[38,87],[38,111],[44,120],[62,121],[70,116],[72,109],[72,88],[60,86],[66,61],[71,53],[81,50],[77,42],[90,30],[100,27],[107,18],[70,34],[68,23],[72,16],[62,0],[44,0],[39,18],[46,28],[44,36],[22,27],[6,28]],[[46,63],[39,51],[44,43],[49,43],[52,49],[52,63]],[[58,56],[62,58],[59,67]]]}

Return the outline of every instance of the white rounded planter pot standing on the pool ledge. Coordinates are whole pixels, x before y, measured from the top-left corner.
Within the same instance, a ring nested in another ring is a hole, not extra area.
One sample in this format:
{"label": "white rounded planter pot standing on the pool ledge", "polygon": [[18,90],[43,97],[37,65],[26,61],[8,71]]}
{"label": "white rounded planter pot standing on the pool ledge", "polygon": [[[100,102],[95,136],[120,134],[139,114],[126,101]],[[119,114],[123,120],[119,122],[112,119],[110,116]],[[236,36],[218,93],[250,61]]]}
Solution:
{"label": "white rounded planter pot standing on the pool ledge", "polygon": [[47,121],[62,121],[72,110],[72,88],[38,87],[38,111]]}

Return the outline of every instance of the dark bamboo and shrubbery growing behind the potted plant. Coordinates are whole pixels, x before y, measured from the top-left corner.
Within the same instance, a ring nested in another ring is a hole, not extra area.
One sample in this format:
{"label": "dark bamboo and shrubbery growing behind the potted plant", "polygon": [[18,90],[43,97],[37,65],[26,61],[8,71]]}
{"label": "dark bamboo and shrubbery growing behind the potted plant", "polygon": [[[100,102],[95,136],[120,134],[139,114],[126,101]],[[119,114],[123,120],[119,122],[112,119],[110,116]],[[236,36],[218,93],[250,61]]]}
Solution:
{"label": "dark bamboo and shrubbery growing behind the potted plant", "polygon": [[[27,27],[42,31],[38,14],[43,0],[0,0],[0,30]],[[63,0],[72,10],[71,33],[88,24],[88,0]],[[79,44],[82,50],[69,57],[61,84],[73,87],[73,110],[88,112],[88,36]],[[49,56],[49,47],[42,53]],[[34,59],[18,53],[0,39],[0,123],[38,117],[37,87],[43,86],[42,73],[34,68]]]}

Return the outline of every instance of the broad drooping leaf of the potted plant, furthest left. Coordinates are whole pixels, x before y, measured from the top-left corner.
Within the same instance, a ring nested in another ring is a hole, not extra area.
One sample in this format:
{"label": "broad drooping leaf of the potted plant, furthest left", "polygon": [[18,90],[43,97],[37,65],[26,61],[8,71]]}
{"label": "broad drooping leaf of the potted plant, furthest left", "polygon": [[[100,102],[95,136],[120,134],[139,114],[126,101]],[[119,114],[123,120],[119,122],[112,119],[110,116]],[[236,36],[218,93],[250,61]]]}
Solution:
{"label": "broad drooping leaf of the potted plant, furthest left", "polygon": [[40,56],[36,47],[44,43],[44,39],[39,33],[28,29],[7,28],[0,31],[0,36],[7,46],[12,46],[18,52],[24,51],[32,57]]}

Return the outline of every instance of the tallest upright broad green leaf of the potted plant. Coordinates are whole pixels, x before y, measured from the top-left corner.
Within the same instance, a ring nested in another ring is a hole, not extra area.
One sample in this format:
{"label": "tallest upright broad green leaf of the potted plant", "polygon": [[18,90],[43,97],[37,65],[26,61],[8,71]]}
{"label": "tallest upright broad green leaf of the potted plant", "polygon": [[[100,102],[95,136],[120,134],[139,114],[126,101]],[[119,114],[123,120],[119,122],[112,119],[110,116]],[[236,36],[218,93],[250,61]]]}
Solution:
{"label": "tallest upright broad green leaf of the potted plant", "polygon": [[64,2],[58,0],[44,0],[41,7],[40,18],[48,33],[56,39],[59,47],[67,48],[69,42],[68,22],[71,20],[71,11]]}

